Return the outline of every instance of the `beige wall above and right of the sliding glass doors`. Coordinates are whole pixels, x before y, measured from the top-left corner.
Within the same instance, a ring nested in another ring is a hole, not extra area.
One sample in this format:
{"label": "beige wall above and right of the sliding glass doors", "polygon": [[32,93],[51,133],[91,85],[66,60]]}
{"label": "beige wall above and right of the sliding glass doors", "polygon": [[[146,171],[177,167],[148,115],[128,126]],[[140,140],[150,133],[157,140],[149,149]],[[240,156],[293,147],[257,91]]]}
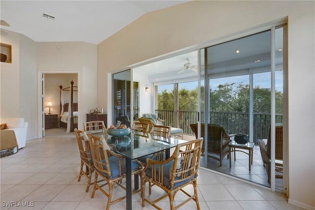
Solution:
{"label": "beige wall above and right of the sliding glass doors", "polygon": [[109,79],[108,72],[287,18],[289,202],[314,209],[314,8],[314,1],[191,1],[148,13],[97,46],[97,104],[110,112],[110,88],[100,82]]}

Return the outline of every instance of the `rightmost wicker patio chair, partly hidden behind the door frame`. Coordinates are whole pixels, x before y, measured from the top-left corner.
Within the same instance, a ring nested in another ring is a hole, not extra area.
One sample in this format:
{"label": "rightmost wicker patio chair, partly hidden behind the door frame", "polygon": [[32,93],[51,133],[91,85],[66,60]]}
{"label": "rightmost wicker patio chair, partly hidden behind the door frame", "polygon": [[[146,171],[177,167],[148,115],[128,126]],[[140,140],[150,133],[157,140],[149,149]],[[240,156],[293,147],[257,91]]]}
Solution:
{"label": "rightmost wicker patio chair, partly hidden behind the door frame", "polygon": [[[276,126],[276,151],[275,151],[275,160],[276,160],[276,179],[283,179],[283,126]],[[267,141],[267,142],[266,142]],[[264,163],[268,175],[268,183],[270,183],[270,174],[271,174],[271,129],[269,127],[268,139],[259,139],[258,140],[261,158]]]}

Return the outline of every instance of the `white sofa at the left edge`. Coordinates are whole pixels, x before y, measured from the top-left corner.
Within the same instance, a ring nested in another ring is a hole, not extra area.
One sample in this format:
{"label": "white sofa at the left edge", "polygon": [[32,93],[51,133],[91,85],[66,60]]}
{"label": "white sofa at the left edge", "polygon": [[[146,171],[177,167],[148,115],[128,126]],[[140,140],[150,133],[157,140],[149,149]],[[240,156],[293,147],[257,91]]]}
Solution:
{"label": "white sofa at the left edge", "polygon": [[9,130],[14,130],[19,149],[24,148],[29,123],[25,122],[24,118],[2,118],[0,121],[1,123],[6,123],[9,127]]}

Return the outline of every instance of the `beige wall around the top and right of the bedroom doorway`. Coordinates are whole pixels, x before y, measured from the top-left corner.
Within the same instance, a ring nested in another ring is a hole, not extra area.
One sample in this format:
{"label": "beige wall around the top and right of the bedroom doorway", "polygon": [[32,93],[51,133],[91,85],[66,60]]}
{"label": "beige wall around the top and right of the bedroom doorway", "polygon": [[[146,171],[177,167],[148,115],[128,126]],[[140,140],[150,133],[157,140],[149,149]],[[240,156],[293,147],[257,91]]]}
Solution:
{"label": "beige wall around the top and right of the bedroom doorway", "polygon": [[[38,42],[38,72],[77,73],[78,129],[83,129],[86,113],[97,104],[96,45],[85,42]],[[59,84],[60,85],[60,84]],[[64,87],[70,86],[63,85]]]}

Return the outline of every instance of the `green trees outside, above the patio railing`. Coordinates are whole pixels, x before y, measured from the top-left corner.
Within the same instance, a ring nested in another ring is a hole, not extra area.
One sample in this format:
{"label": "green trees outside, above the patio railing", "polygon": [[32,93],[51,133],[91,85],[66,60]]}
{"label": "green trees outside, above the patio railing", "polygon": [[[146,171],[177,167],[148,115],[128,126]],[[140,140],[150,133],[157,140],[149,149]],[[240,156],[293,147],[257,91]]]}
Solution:
{"label": "green trees outside, above the patio railing", "polygon": [[[181,111],[198,110],[198,89],[187,90],[182,88],[178,92],[178,109]],[[201,87],[201,110],[204,110],[204,87]],[[221,84],[217,89],[210,89],[211,112],[237,112],[249,113],[250,86],[243,83]],[[174,90],[163,90],[158,94],[159,110],[174,110]],[[271,91],[270,89],[253,88],[253,112],[270,113]],[[276,113],[283,111],[283,93],[276,91]]]}

